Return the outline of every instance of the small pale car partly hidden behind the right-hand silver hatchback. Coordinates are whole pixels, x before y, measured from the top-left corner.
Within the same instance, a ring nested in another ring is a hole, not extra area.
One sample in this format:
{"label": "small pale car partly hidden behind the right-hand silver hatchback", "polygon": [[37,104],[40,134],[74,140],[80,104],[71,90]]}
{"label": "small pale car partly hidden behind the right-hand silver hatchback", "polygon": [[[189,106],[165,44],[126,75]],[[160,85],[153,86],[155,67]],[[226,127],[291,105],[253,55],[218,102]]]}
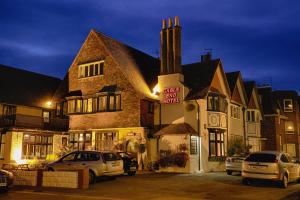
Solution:
{"label": "small pale car partly hidden behind the right-hand silver hatchback", "polygon": [[228,175],[232,175],[233,172],[242,172],[242,162],[245,160],[244,155],[233,155],[227,157],[225,160],[225,168]]}

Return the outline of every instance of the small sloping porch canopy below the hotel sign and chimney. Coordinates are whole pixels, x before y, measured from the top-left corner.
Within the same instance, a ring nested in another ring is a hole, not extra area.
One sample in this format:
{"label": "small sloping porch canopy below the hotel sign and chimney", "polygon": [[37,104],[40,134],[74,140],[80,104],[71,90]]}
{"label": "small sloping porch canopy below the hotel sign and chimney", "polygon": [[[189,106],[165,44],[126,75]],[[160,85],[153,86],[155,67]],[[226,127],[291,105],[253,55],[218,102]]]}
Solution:
{"label": "small sloping porch canopy below the hotel sign and chimney", "polygon": [[189,125],[188,123],[169,124],[168,126],[156,132],[154,136],[158,137],[162,135],[179,135],[179,134],[198,136],[197,131],[195,131],[195,129],[193,129],[191,125]]}

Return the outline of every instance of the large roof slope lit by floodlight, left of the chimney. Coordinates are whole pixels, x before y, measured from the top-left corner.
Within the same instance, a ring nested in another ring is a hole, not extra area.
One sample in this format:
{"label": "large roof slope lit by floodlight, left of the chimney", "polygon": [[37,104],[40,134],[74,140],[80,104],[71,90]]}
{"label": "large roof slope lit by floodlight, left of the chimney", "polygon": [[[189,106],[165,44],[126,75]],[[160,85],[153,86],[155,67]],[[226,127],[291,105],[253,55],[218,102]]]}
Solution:
{"label": "large roof slope lit by floodlight, left of the chimney", "polygon": [[143,84],[146,84],[151,91],[157,83],[157,76],[160,72],[159,59],[112,39],[103,33],[95,30],[92,30],[92,33],[97,35],[134,87],[141,87],[138,89],[144,93],[145,88],[142,87]]}

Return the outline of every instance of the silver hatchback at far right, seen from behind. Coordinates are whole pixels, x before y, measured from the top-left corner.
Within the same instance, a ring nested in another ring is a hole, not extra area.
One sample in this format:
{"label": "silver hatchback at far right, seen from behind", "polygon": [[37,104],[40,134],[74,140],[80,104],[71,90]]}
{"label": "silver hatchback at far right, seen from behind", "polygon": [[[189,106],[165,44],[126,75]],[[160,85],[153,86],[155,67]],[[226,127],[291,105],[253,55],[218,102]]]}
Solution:
{"label": "silver hatchback at far right, seen from behind", "polygon": [[243,161],[242,178],[244,184],[249,184],[251,179],[263,179],[277,181],[286,188],[289,182],[300,180],[300,165],[292,162],[286,153],[255,152]]}

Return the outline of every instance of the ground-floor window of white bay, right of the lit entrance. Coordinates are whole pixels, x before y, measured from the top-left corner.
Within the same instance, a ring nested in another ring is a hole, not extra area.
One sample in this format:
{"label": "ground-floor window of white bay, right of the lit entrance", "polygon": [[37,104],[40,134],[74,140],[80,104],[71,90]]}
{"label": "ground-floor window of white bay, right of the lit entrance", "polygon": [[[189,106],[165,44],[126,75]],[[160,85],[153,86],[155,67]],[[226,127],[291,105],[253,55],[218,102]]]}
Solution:
{"label": "ground-floor window of white bay, right of the lit entrance", "polygon": [[224,133],[209,132],[209,156],[223,157],[224,151]]}

